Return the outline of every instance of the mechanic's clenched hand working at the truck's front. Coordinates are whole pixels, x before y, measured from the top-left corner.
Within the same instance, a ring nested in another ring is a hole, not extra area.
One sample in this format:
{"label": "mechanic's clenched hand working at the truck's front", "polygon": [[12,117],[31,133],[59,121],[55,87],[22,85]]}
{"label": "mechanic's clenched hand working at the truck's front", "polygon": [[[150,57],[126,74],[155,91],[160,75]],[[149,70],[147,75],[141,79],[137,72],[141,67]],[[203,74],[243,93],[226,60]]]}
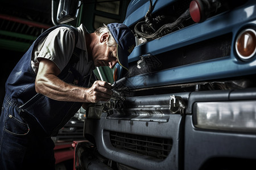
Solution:
{"label": "mechanic's clenched hand working at the truck's front", "polygon": [[92,87],[88,88],[86,99],[90,103],[97,103],[98,101],[108,101],[112,96],[111,85],[104,81],[95,81]]}

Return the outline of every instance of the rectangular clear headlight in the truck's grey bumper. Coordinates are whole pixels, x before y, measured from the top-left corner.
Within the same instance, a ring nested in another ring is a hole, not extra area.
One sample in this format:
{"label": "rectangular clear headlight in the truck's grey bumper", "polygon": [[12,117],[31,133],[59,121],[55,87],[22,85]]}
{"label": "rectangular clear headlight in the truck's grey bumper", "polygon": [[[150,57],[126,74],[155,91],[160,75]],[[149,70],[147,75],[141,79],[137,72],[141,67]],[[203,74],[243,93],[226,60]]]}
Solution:
{"label": "rectangular clear headlight in the truck's grey bumper", "polygon": [[200,102],[193,109],[197,128],[256,131],[256,101]]}

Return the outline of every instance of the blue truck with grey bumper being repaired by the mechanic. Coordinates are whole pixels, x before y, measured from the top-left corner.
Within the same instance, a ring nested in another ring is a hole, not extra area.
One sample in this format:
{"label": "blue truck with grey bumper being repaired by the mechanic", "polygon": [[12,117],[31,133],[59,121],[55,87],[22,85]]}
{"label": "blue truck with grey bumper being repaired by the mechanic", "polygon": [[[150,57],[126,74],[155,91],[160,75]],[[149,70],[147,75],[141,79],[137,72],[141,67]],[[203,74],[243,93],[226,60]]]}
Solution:
{"label": "blue truck with grey bumper being repaired by the mechanic", "polygon": [[256,165],[256,1],[131,1],[118,97],[86,109],[77,169]]}

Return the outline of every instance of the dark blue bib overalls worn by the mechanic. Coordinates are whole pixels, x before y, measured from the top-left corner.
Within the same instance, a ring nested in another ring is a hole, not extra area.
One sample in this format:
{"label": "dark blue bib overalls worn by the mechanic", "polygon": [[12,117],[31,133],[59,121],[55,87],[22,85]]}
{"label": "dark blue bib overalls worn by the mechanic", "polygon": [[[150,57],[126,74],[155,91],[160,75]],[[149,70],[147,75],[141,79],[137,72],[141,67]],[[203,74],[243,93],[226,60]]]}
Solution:
{"label": "dark blue bib overalls worn by the mechanic", "polygon": [[[31,67],[34,46],[56,27],[47,29],[34,41],[14,67],[6,82],[6,95],[0,117],[0,169],[55,169],[51,140],[68,120],[79,110],[82,103],[57,101],[37,94],[36,74]],[[73,29],[76,34],[77,30]],[[73,63],[77,62],[77,50],[68,65],[58,76],[64,82],[88,84],[89,76],[82,78]]]}

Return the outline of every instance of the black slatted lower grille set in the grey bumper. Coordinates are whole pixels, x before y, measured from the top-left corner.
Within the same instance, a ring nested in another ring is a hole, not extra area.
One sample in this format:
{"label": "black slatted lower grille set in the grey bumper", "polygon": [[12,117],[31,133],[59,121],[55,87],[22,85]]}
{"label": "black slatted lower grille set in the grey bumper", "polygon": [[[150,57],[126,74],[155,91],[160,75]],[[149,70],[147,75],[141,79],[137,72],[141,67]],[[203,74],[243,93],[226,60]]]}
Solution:
{"label": "black slatted lower grille set in the grey bumper", "polygon": [[164,160],[171,152],[172,139],[110,131],[110,141],[115,148]]}

